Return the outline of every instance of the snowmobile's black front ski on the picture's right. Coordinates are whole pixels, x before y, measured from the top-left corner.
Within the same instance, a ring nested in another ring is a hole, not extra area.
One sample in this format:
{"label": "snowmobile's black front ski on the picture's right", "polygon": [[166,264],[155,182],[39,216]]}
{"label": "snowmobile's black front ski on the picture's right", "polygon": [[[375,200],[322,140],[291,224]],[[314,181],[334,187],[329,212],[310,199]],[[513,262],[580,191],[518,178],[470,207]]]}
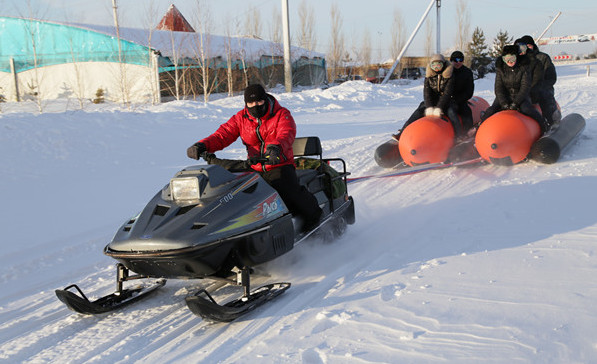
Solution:
{"label": "snowmobile's black front ski on the picture's right", "polygon": [[197,316],[210,321],[230,322],[263,305],[290,288],[290,283],[273,283],[257,288],[248,296],[218,304],[204,289],[186,298],[187,306]]}

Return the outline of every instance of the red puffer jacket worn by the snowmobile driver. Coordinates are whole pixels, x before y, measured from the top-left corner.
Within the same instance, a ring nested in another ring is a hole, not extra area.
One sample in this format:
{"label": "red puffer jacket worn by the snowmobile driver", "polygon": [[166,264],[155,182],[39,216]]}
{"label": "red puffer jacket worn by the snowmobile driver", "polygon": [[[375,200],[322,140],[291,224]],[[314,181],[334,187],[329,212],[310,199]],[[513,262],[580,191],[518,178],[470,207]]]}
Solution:
{"label": "red puffer jacket worn by the snowmobile driver", "polygon": [[292,143],[296,136],[296,124],[292,115],[290,115],[290,111],[280,106],[278,100],[270,94],[267,94],[267,98],[269,110],[263,118],[254,118],[245,107],[226,123],[220,125],[215,133],[201,139],[199,142],[205,144],[209,153],[214,153],[234,143],[240,136],[247,148],[248,158],[263,157],[265,149],[270,144],[280,146],[282,150],[281,163],[253,165],[252,168],[259,172],[269,171],[286,164],[293,164]]}

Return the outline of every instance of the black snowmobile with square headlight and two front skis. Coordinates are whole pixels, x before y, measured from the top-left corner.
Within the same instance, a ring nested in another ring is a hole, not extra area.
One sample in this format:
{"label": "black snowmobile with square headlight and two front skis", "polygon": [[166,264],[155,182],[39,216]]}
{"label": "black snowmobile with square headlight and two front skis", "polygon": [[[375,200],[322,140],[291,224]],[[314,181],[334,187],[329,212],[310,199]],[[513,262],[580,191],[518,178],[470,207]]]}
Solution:
{"label": "black snowmobile with square headlight and two front skis", "polygon": [[[187,167],[140,214],[127,220],[104,248],[104,254],[119,261],[114,293],[90,301],[73,284],[56,290],[56,295],[76,312],[97,314],[147,296],[163,286],[166,278],[242,286],[242,296],[223,305],[216,303],[213,290],[202,289],[186,298],[193,313],[215,321],[234,320],[278,296],[290,283],[251,291],[252,267],[288,252],[310,236],[334,239],[355,221],[344,160],[324,159],[318,137],[297,138],[293,149],[299,181],[323,209],[321,222],[313,230],[302,230],[302,221],[259,174],[231,172],[218,164]],[[210,163],[214,159],[212,155]],[[123,288],[126,281],[144,278],[159,279]]]}

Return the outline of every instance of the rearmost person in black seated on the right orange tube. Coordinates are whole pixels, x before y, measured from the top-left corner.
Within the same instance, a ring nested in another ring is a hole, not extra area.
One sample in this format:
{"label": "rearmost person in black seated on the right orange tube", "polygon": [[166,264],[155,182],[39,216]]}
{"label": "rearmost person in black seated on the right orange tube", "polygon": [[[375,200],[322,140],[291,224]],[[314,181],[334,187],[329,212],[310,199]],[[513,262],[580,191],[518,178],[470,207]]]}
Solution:
{"label": "rearmost person in black seated on the right orange tube", "polygon": [[554,85],[558,79],[556,68],[547,53],[539,51],[533,37],[525,35],[516,40],[521,52],[526,54],[531,62],[535,63],[533,85],[531,87],[531,102],[539,104],[543,116],[550,124],[560,122],[562,115],[554,97]]}

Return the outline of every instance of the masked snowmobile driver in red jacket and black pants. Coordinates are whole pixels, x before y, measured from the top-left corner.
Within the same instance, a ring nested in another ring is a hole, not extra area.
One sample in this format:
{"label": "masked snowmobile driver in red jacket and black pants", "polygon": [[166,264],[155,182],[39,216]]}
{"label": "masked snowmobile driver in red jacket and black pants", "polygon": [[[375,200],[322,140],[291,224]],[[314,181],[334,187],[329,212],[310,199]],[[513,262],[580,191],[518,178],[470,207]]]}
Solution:
{"label": "masked snowmobile driver in red jacket and black pants", "polygon": [[278,191],[288,209],[302,217],[303,230],[307,231],[316,227],[322,210],[315,196],[298,183],[292,151],[295,136],[296,124],[290,111],[280,106],[263,86],[249,85],[245,89],[244,109],[220,125],[215,133],[190,146],[187,156],[204,157],[209,162],[213,158],[208,153],[222,150],[240,137],[248,159],[258,161],[247,167]]}

